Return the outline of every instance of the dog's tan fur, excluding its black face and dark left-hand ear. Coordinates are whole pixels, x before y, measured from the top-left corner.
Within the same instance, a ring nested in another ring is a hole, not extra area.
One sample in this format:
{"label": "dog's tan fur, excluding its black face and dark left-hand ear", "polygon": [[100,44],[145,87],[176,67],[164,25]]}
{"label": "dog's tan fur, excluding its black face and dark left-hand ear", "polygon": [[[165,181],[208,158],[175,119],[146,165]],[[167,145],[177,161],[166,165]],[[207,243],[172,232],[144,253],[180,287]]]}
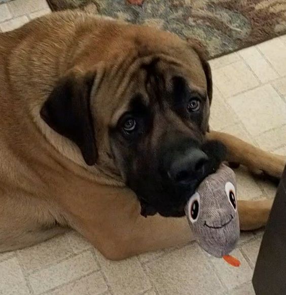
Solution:
{"label": "dog's tan fur, excluding its black face and dark left-hand ear", "polygon": [[[68,227],[111,259],[192,239],[185,218],[140,216],[136,196],[106,157],[107,128],[125,108],[123,94],[132,90],[139,62],[156,54],[184,65],[190,81],[206,89],[195,51],[166,32],[68,11],[0,34],[0,251],[44,241]],[[92,90],[100,92],[91,102],[100,122],[99,158],[88,167],[78,147],[41,119],[40,109],[60,77],[93,71],[104,83]],[[226,143],[230,160],[281,175],[284,158],[227,135],[209,137]],[[252,230],[265,225],[271,202],[239,207],[241,228]]]}

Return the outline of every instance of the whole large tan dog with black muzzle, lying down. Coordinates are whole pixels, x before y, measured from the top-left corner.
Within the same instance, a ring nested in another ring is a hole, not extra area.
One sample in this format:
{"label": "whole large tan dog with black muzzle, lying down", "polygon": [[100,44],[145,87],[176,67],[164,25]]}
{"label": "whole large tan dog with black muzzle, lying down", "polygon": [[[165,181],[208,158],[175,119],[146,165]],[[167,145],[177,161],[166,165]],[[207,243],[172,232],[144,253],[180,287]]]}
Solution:
{"label": "whole large tan dog with black muzzle, lying down", "polygon": [[[0,251],[69,227],[111,259],[188,242],[178,217],[224,145],[228,160],[282,173],[282,157],[207,133],[209,66],[167,32],[52,14],[0,34],[0,65]],[[241,228],[270,207],[239,202]]]}

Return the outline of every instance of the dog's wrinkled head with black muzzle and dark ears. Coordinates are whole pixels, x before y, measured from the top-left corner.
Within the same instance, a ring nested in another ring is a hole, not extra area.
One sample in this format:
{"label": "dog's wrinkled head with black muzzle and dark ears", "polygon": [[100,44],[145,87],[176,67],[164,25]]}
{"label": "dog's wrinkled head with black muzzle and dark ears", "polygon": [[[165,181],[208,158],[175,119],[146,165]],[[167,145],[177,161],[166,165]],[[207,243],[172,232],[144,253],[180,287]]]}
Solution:
{"label": "dog's wrinkled head with black muzzle and dark ears", "polygon": [[[91,34],[92,35],[92,34]],[[121,25],[85,43],[41,116],[75,143],[88,166],[120,175],[142,215],[182,216],[190,195],[223,160],[206,142],[212,96],[206,59],[167,32]],[[95,48],[95,52],[90,52]]]}

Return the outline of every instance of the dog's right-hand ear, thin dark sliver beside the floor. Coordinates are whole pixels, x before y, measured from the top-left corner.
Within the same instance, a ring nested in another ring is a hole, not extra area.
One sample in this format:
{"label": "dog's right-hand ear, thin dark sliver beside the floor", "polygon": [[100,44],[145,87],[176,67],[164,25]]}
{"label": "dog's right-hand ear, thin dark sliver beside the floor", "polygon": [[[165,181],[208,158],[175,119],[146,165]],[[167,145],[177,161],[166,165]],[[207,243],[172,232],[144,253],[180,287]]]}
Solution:
{"label": "dog's right-hand ear, thin dark sliver beside the floor", "polygon": [[194,41],[191,39],[188,39],[188,44],[191,46],[191,48],[197,53],[197,55],[200,58],[205,77],[206,77],[206,83],[207,83],[207,96],[209,99],[209,104],[211,104],[212,100],[212,78],[211,78],[211,70],[209,63],[207,62],[208,52],[205,50],[205,47],[199,43],[198,41]]}

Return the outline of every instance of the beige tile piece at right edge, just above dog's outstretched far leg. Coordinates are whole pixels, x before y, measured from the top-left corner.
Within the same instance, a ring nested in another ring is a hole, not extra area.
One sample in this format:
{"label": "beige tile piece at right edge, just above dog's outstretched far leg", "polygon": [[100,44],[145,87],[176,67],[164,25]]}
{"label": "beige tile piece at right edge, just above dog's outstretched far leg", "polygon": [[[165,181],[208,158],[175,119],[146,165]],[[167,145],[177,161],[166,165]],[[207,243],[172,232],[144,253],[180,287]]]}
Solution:
{"label": "beige tile piece at right edge, just above dog's outstretched far leg", "polygon": [[273,128],[255,138],[259,146],[266,151],[273,151],[286,144],[286,125]]}

